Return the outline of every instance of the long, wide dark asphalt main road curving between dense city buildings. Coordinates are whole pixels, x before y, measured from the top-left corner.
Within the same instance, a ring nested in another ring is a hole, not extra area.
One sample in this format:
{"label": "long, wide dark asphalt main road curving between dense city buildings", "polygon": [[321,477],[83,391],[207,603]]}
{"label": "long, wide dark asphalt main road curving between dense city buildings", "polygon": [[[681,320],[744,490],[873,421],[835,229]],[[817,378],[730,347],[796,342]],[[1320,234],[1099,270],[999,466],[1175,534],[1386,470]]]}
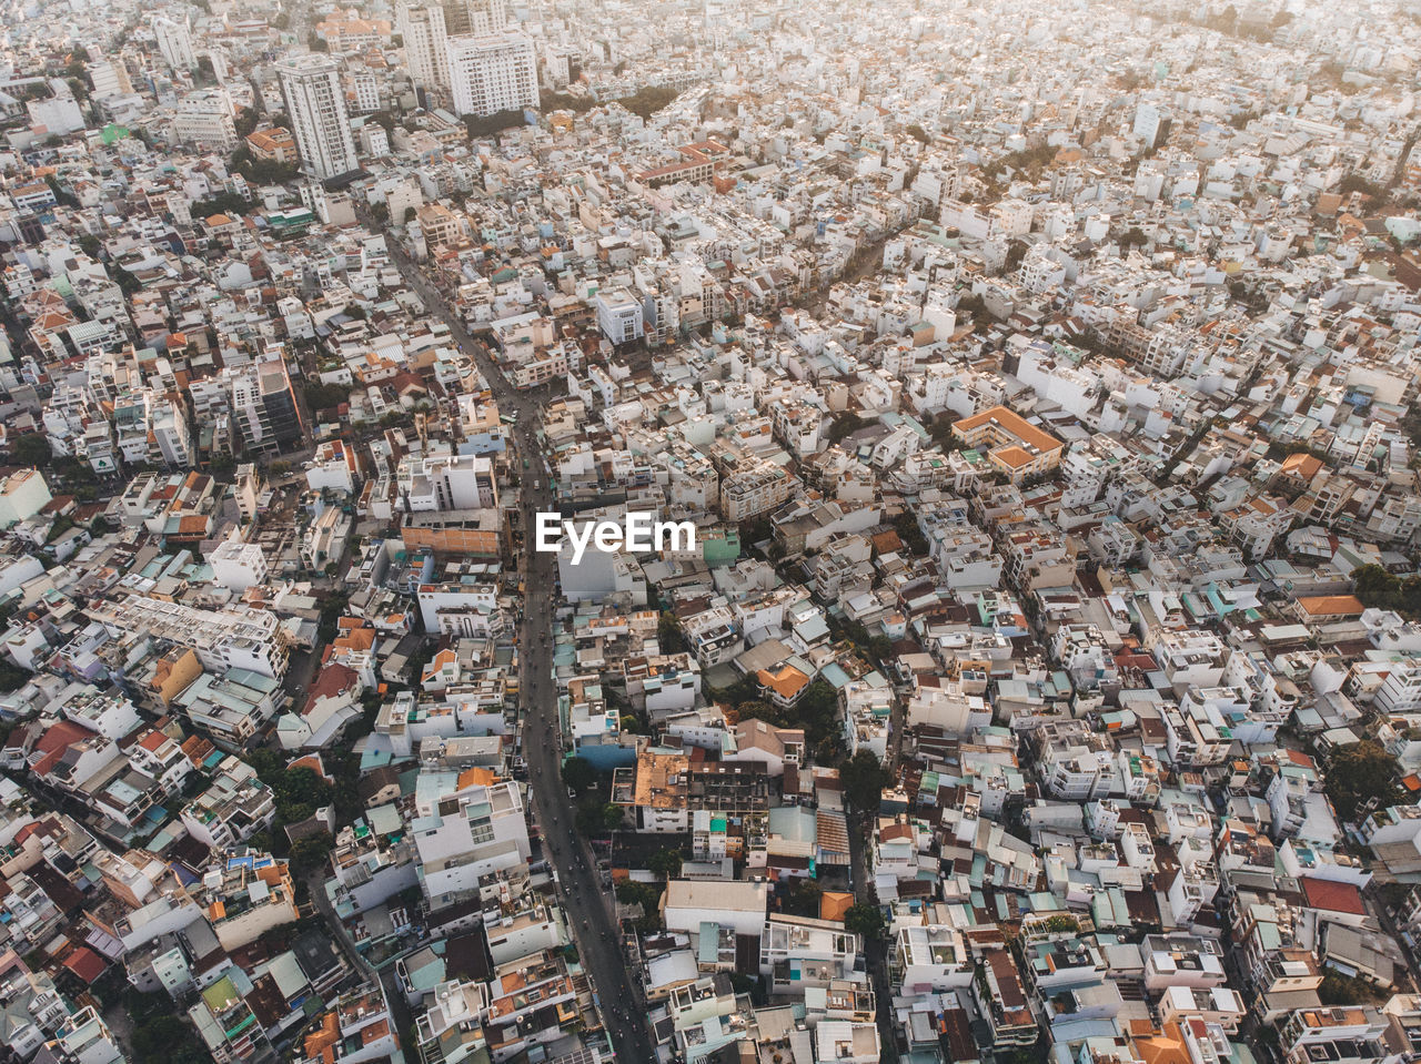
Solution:
{"label": "long, wide dark asphalt main road curving between dense city buildings", "polygon": [[[358,199],[358,197],[357,197]],[[384,227],[364,212],[362,220],[372,232]],[[483,372],[493,399],[502,413],[516,413],[510,432],[517,450],[527,456],[529,470],[522,473],[520,511],[523,527],[531,528],[534,514],[551,511],[553,490],[543,456],[537,446],[540,409],[534,399],[509,384],[503,371],[476,342],[453,314],[439,291],[429,283],[418,264],[409,260],[394,234],[385,233],[391,261],[425,303],[426,308],[446,325],[459,348],[473,358]],[[527,537],[524,537],[527,540]],[[529,763],[529,788],[543,828],[549,859],[557,869],[564,889],[568,923],[578,940],[578,953],[603,1006],[603,1020],[612,1038],[612,1048],[621,1060],[649,1061],[657,1058],[655,1046],[644,1023],[645,1011],[638,1011],[639,987],[627,977],[621,956],[621,939],[612,913],[601,894],[595,864],[583,840],[573,830],[573,807],[560,776],[563,740],[557,717],[557,688],[553,682],[553,612],[557,607],[553,554],[533,550],[520,553],[523,577],[523,624],[520,629],[520,702],[523,703],[523,756]],[[621,1013],[618,1016],[618,1013]]]}

